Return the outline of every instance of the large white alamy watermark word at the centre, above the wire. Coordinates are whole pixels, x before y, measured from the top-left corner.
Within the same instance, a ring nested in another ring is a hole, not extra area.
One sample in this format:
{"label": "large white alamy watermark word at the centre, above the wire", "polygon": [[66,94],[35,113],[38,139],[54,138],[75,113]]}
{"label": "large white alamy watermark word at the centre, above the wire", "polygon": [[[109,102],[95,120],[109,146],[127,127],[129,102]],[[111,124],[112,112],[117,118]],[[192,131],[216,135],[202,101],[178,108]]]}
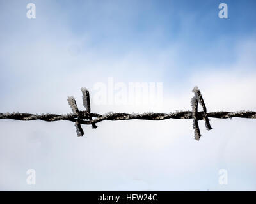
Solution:
{"label": "large white alamy watermark word at the centre, above the wire", "polygon": [[93,85],[96,105],[161,105],[163,82],[96,82]]}

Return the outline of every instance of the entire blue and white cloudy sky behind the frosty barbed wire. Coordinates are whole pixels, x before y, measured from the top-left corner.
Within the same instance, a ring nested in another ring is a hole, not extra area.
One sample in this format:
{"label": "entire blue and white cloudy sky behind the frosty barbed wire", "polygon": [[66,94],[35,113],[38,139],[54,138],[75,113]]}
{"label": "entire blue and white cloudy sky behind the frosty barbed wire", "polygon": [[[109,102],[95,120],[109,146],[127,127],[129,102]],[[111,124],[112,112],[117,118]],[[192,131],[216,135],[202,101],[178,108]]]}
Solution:
{"label": "entire blue and white cloudy sky behind the frosty barbed wire", "polygon": [[[26,17],[28,3],[36,19]],[[218,17],[220,3],[228,19]],[[256,1],[0,1],[0,112],[68,113],[81,87],[163,82],[163,105],[96,105],[94,113],[256,109]],[[255,191],[253,119],[0,121],[0,189]],[[26,171],[35,169],[36,184]],[[228,184],[219,184],[219,170]]]}

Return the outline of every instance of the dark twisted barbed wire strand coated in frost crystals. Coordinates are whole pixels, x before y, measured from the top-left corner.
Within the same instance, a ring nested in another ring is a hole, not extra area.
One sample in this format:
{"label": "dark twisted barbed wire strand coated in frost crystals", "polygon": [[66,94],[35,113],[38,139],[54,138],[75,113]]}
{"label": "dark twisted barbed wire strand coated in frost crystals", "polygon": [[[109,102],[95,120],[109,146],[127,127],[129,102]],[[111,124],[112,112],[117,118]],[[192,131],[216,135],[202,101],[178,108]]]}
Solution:
{"label": "dark twisted barbed wire strand coated in frost crystals", "polygon": [[[83,136],[84,131],[81,127],[81,124],[92,125],[92,128],[97,128],[96,124],[102,122],[103,120],[166,120],[166,119],[193,119],[193,129],[195,134],[195,139],[200,140],[200,128],[198,125],[198,120],[204,120],[207,130],[211,130],[211,124],[209,117],[218,118],[218,119],[231,119],[232,117],[241,117],[248,119],[256,119],[256,112],[253,111],[239,111],[239,112],[210,112],[207,113],[207,109],[202,98],[202,94],[198,87],[194,87],[193,92],[194,96],[191,99],[192,111],[180,111],[180,112],[171,112],[171,113],[114,113],[108,112],[104,115],[98,113],[91,113],[90,108],[90,94],[86,88],[81,88],[83,96],[83,106],[85,111],[79,111],[76,100],[73,96],[68,96],[68,104],[72,110],[72,113],[65,115],[57,114],[29,114],[29,113],[0,113],[0,119],[13,119],[13,120],[44,120],[47,122],[54,122],[60,120],[68,120],[75,122],[77,136]],[[198,112],[198,102],[202,106],[203,111]]]}

